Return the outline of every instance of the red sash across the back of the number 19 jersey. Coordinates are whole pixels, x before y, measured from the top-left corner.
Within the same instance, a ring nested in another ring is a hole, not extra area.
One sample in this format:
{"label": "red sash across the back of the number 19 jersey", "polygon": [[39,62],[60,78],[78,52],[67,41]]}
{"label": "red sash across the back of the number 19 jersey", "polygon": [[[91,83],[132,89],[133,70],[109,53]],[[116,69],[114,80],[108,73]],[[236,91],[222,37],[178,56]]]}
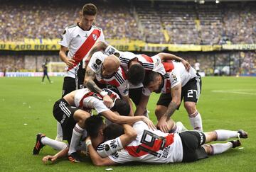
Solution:
{"label": "red sash across the back of the number 19 jersey", "polygon": [[[168,134],[166,137],[166,143],[164,144],[164,147],[168,147],[174,142],[174,134]],[[154,141],[154,144],[152,147],[149,147],[149,145],[146,144],[139,144],[138,146],[127,146],[125,149],[128,151],[128,153],[131,156],[139,157],[144,156],[146,154],[151,154],[152,152],[157,152],[161,149],[162,140],[156,139]],[[141,147],[144,147],[144,149],[140,149]]]}

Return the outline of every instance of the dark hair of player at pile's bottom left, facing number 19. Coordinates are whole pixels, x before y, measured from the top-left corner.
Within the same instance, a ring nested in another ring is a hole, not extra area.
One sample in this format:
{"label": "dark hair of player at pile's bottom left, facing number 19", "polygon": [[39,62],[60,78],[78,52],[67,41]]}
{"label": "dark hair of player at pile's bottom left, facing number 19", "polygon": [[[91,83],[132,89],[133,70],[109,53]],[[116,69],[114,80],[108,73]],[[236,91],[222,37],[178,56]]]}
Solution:
{"label": "dark hair of player at pile's bottom left, facing number 19", "polygon": [[85,120],[85,130],[91,138],[95,138],[103,124],[103,118],[100,115],[92,115]]}

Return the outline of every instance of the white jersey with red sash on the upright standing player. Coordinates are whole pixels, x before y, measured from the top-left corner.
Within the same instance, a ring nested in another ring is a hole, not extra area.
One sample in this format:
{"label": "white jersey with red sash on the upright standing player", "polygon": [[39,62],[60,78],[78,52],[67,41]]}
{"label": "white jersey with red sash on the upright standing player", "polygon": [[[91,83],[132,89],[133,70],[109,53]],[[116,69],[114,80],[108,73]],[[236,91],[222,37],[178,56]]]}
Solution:
{"label": "white jersey with red sash on the upright standing player", "polygon": [[[75,73],[78,70],[78,64],[85,59],[89,54],[93,45],[98,40],[105,42],[105,38],[101,28],[92,25],[90,30],[83,30],[78,24],[70,25],[65,28],[59,45],[68,47],[68,58],[75,60],[75,67],[65,67],[65,76],[75,78]],[[84,64],[84,63],[83,63]]]}

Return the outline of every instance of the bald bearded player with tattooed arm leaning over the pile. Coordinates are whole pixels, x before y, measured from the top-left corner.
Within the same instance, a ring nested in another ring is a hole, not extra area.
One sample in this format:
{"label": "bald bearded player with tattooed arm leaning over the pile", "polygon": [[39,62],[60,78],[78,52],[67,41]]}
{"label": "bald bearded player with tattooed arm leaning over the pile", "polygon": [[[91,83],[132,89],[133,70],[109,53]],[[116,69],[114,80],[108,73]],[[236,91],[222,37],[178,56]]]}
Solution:
{"label": "bald bearded player with tattooed arm leaning over the pile", "polygon": [[[132,101],[130,101],[128,96],[129,84],[126,79],[124,69],[120,66],[119,59],[114,55],[107,56],[103,52],[95,52],[87,65],[85,74],[85,86],[91,91],[100,93],[104,97],[104,103],[107,107],[112,106],[112,100],[109,96],[105,95],[102,89],[100,89],[97,84],[95,84],[95,79],[100,83],[109,84],[115,86],[122,96],[122,99],[129,103],[130,114],[132,112]],[[114,71],[112,73],[112,71]]]}

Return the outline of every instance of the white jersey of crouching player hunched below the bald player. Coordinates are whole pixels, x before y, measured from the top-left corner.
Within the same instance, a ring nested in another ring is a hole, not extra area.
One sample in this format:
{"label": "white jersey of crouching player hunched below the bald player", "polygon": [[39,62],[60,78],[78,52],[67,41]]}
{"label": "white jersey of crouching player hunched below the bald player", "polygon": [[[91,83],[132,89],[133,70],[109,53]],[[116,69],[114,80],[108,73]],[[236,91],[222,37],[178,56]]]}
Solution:
{"label": "white jersey of crouching player hunched below the bald player", "polygon": [[[119,98],[117,93],[114,93],[114,91],[111,91],[110,89],[102,89],[103,91],[106,91],[110,98],[113,99],[113,102],[117,98]],[[90,91],[88,88],[82,88],[76,91],[75,93],[75,106],[83,109],[95,109],[97,113],[102,113],[107,110],[110,110],[107,108],[107,106],[103,103],[103,98],[98,93],[94,93]]]}

